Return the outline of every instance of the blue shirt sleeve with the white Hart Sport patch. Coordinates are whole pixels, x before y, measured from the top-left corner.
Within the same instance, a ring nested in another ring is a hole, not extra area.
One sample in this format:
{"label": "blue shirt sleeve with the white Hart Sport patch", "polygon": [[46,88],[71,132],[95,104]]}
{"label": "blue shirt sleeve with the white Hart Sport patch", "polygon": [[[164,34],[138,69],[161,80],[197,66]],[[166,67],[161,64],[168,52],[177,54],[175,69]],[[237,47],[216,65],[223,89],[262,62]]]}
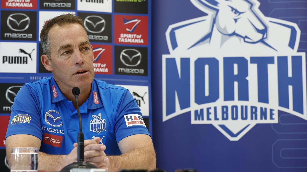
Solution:
{"label": "blue shirt sleeve with the white Hart Sport patch", "polygon": [[116,141],[118,143],[123,138],[134,134],[147,134],[150,136],[135,98],[133,98],[131,93],[126,90],[123,93],[116,110]]}

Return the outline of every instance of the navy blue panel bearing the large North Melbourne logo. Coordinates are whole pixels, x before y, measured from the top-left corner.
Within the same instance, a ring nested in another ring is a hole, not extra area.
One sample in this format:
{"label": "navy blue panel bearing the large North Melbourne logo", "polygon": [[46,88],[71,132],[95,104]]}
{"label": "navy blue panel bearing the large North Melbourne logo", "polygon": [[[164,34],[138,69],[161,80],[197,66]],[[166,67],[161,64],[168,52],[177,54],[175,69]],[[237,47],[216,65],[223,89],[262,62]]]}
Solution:
{"label": "navy blue panel bearing the large North Melbourne logo", "polygon": [[307,1],[155,0],[152,17],[159,168],[307,170]]}

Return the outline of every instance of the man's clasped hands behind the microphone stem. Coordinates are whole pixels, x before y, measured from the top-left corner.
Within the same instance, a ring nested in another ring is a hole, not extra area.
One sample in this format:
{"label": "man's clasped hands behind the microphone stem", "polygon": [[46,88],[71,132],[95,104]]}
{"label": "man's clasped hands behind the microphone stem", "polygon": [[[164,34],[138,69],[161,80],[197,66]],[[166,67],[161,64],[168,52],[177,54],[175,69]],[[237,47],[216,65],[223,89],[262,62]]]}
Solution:
{"label": "man's clasped hands behind the microphone stem", "polygon": [[[107,155],[104,153],[106,150],[106,145],[99,144],[100,138],[96,137],[94,139],[84,140],[84,161],[87,163],[91,163],[98,168],[104,168],[108,170],[109,159]],[[72,159],[72,161],[77,161],[77,148],[78,144],[74,143],[74,148],[68,154],[68,157]]]}

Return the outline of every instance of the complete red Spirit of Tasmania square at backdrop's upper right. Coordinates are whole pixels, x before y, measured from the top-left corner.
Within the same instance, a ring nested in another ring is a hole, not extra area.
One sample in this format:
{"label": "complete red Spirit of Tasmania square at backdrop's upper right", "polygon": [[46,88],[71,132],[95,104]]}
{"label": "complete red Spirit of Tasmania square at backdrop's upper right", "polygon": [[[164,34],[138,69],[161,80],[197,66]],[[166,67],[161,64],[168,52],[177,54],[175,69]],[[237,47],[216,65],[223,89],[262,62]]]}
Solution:
{"label": "complete red Spirit of Tasmania square at backdrop's upper right", "polygon": [[148,17],[114,15],[114,43],[147,45]]}

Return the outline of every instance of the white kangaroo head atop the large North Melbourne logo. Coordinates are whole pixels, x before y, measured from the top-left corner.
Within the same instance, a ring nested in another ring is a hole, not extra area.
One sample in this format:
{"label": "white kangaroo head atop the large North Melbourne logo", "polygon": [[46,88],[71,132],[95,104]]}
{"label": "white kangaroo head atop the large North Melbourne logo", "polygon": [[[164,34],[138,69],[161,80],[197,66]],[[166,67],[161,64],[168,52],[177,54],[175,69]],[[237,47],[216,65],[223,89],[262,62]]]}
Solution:
{"label": "white kangaroo head atop the large North Melbourne logo", "polygon": [[223,35],[236,35],[247,43],[258,43],[266,38],[267,26],[256,13],[258,5],[250,0],[191,1],[200,10],[208,12],[209,8],[215,14],[213,28]]}

